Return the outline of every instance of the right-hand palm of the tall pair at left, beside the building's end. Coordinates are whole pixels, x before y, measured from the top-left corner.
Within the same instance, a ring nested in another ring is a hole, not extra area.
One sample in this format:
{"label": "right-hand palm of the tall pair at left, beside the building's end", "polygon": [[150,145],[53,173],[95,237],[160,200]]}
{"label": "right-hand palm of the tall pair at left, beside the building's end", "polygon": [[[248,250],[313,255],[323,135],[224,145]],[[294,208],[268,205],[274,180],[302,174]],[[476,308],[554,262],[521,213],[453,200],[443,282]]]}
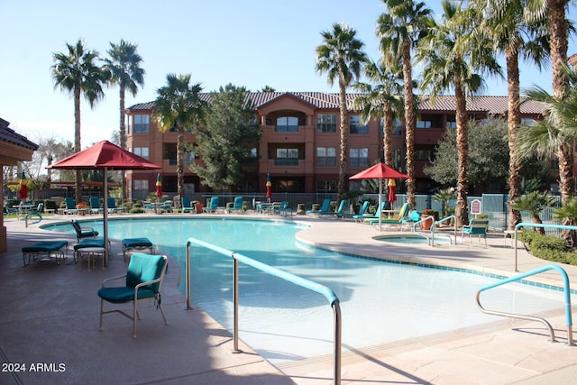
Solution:
{"label": "right-hand palm of the tall pair at left, beside the building's end", "polygon": [[[138,87],[144,85],[144,69],[140,67],[141,56],[136,52],[138,46],[121,40],[119,44],[110,43],[107,50],[110,58],[105,59],[105,69],[111,74],[110,82],[118,85],[120,92],[120,146],[126,148],[126,124],[124,115],[125,94],[128,90],[133,96],[138,93]],[[123,198],[126,197],[126,183],[121,179]]]}

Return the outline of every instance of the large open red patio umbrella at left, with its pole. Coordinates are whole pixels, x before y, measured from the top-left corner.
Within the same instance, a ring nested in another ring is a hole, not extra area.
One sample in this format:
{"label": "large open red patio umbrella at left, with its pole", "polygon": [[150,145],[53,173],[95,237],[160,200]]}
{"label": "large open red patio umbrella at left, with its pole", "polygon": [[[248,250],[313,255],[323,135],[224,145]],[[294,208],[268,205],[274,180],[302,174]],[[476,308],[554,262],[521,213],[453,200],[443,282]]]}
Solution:
{"label": "large open red patio umbrella at left, with its pole", "polygon": [[[97,142],[86,150],[78,151],[63,160],[52,163],[47,169],[57,170],[103,170],[104,211],[103,227],[105,253],[108,253],[108,170],[158,170],[161,167],[145,160],[131,151],[126,151],[108,141]],[[108,255],[106,255],[106,258]]]}

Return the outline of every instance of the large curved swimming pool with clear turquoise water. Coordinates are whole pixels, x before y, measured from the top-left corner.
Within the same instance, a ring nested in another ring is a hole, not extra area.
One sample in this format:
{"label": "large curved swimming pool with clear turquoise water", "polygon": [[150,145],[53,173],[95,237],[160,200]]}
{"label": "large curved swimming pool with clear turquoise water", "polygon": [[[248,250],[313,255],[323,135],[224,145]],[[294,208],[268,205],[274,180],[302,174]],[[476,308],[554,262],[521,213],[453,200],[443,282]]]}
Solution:
{"label": "large curved swimming pool with clear turquoise water", "polygon": [[[502,320],[482,314],[475,305],[477,290],[494,281],[490,277],[309,248],[295,240],[303,227],[285,222],[147,217],[143,225],[142,219],[110,220],[110,236],[146,236],[181,267],[187,240],[195,237],[333,289],[341,301],[343,350]],[[99,222],[87,225],[102,231]],[[69,224],[52,229],[72,232]],[[232,330],[232,261],[198,246],[193,246],[192,253],[193,301]],[[180,284],[184,292],[184,281]],[[563,308],[563,296],[513,284],[484,293],[483,304],[535,314]],[[330,354],[333,313],[322,296],[241,264],[239,333],[270,362]]]}

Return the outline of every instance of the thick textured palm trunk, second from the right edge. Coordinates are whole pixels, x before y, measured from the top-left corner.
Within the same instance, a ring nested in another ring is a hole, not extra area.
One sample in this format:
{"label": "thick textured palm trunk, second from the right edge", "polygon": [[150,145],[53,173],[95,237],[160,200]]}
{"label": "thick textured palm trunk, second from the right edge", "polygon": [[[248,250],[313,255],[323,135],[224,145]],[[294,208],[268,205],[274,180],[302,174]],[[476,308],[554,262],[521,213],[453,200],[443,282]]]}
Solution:
{"label": "thick textured palm trunk, second from the right edge", "polygon": [[521,222],[521,213],[514,209],[521,197],[521,160],[517,151],[517,135],[521,125],[521,105],[519,98],[519,62],[518,51],[508,49],[507,88],[508,88],[508,229],[513,230]]}

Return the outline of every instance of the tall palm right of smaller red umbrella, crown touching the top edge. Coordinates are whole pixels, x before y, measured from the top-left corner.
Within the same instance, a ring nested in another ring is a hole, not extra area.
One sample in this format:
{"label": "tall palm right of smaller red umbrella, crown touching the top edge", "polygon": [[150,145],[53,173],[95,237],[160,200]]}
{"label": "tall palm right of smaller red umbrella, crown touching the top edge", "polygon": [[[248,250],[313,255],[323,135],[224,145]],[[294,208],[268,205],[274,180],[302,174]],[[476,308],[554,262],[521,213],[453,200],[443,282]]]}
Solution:
{"label": "tall palm right of smaller red umbrella, crown touching the top edge", "polygon": [[[405,142],[407,145],[406,173],[415,175],[415,131],[417,107],[413,93],[412,51],[419,38],[426,35],[432,25],[431,10],[424,2],[413,0],[382,0],[387,13],[377,21],[377,36],[384,60],[391,58],[402,63],[405,96]],[[407,179],[408,202],[415,207],[415,179]]]}

